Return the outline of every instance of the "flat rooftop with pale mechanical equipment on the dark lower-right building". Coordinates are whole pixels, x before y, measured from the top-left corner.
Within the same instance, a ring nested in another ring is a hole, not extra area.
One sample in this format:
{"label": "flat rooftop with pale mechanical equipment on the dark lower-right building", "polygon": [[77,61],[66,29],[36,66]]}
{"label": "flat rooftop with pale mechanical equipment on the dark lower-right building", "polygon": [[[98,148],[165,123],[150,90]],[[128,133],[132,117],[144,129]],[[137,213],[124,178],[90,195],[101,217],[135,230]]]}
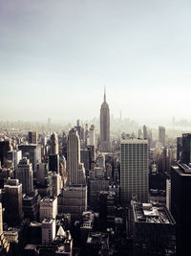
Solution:
{"label": "flat rooftop with pale mechanical equipment on the dark lower-right building", "polygon": [[175,224],[165,205],[134,202],[133,212],[136,222]]}

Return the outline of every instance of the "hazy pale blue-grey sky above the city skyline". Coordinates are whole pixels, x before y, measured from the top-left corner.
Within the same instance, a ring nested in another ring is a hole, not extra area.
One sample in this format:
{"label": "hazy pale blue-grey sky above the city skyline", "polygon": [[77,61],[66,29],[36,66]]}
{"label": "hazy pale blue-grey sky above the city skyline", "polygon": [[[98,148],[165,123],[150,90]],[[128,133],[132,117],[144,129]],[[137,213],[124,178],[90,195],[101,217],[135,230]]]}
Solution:
{"label": "hazy pale blue-grey sky above the city skyline", "polygon": [[0,120],[191,118],[191,2],[0,0]]}

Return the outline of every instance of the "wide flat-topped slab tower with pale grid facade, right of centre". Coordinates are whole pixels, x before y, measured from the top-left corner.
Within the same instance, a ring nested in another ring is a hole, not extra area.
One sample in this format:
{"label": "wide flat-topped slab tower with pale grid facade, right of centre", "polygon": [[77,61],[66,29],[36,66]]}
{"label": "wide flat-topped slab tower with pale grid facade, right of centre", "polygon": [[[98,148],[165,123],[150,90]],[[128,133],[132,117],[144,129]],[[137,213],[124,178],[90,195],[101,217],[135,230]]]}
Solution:
{"label": "wide flat-topped slab tower with pale grid facade, right of centre", "polygon": [[133,197],[148,200],[148,141],[122,139],[120,143],[120,199],[128,204]]}

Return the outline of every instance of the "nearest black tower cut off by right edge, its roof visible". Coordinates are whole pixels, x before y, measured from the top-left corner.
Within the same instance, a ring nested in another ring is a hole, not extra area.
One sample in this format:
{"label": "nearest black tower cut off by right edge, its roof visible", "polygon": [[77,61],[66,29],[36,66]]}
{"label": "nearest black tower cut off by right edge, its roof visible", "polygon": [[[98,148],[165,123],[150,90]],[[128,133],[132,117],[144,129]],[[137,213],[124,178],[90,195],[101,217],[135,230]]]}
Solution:
{"label": "nearest black tower cut off by right edge, its roof visible", "polygon": [[171,213],[177,223],[177,255],[190,255],[191,168],[185,164],[171,168]]}

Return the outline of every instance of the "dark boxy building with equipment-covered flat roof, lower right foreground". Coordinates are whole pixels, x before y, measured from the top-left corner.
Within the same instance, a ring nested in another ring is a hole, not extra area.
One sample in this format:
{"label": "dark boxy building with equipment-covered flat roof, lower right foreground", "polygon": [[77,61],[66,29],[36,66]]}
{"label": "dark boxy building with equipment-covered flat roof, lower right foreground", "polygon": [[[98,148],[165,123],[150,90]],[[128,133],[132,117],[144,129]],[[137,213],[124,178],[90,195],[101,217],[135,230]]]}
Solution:
{"label": "dark boxy building with equipment-covered flat roof, lower right foreground", "polygon": [[176,222],[165,205],[134,202],[132,207],[133,255],[175,256]]}

